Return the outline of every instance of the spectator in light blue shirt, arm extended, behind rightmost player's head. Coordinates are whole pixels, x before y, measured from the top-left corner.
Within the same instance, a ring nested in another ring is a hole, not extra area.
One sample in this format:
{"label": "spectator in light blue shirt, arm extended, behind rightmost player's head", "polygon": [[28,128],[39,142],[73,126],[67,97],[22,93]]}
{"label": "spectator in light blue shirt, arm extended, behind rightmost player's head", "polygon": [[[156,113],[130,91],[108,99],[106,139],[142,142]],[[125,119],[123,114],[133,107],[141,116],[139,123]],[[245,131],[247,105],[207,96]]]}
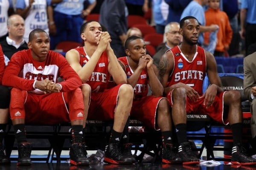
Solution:
{"label": "spectator in light blue shirt, arm extended, behind rightmost player's head", "polygon": [[[192,0],[189,5],[184,9],[181,14],[180,20],[186,16],[195,17],[200,24],[200,34],[198,37],[198,45],[203,45],[204,43],[204,32],[206,31],[216,31],[218,25],[212,24],[210,26],[205,26],[205,15],[203,6],[206,5],[208,0]],[[217,37],[215,37],[216,41]]]}

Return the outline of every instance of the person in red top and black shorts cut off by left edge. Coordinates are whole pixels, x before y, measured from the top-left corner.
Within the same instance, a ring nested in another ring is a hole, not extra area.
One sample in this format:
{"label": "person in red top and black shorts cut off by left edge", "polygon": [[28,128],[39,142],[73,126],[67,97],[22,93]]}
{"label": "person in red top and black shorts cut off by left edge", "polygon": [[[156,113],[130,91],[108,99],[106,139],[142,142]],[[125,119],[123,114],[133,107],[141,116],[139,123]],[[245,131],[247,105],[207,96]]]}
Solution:
{"label": "person in red top and black shorts cut off by left edge", "polygon": [[3,73],[5,70],[3,51],[0,45],[0,164],[10,164],[11,161],[8,156],[6,156],[4,152],[4,143],[3,139],[6,134],[6,125],[8,123],[10,114],[9,114],[9,106],[10,106],[10,90],[8,87],[2,85]]}

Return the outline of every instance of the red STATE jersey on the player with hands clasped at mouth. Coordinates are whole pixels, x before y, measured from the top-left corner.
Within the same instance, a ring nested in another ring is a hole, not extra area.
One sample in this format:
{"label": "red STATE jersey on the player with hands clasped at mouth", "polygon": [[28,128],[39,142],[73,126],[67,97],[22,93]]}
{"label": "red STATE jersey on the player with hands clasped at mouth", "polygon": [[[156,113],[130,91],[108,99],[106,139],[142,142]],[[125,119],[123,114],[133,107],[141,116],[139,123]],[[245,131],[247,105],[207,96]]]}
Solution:
{"label": "red STATE jersey on the player with hands clasped at mouth", "polygon": [[[83,47],[76,48],[76,51],[79,52],[79,63],[83,67],[90,57],[87,56]],[[103,92],[107,88],[109,79],[108,55],[104,51],[86,83],[90,85],[92,92]]]}

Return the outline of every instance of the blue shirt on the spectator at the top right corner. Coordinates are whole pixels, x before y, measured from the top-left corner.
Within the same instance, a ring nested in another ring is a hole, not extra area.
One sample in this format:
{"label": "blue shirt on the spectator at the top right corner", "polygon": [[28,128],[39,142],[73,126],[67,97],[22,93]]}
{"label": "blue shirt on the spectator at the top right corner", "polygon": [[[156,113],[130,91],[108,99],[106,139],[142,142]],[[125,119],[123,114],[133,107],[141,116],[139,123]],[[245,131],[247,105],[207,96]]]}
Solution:
{"label": "blue shirt on the spectator at the top right corner", "polygon": [[241,0],[241,9],[247,9],[246,22],[256,24],[256,0]]}

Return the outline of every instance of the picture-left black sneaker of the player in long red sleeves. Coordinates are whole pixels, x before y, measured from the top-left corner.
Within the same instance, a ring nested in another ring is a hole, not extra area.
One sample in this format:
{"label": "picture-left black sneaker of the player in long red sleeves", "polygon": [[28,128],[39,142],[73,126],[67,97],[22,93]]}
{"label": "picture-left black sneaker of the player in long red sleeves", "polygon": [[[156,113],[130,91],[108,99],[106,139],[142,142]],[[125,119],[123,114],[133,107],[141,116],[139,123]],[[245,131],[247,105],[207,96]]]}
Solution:
{"label": "picture-left black sneaker of the player in long red sleeves", "polygon": [[32,144],[29,142],[23,142],[18,144],[18,166],[30,166],[32,164],[30,155],[32,150]]}

